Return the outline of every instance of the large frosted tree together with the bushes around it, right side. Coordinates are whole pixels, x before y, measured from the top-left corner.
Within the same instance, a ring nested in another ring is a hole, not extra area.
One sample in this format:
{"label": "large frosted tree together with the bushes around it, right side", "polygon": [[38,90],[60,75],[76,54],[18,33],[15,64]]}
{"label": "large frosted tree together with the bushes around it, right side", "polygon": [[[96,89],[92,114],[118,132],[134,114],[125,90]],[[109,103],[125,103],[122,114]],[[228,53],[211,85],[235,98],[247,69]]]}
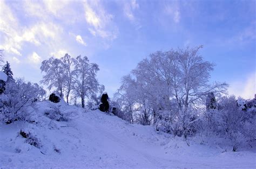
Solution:
{"label": "large frosted tree together with the bushes around it, right side", "polygon": [[209,82],[214,64],[203,60],[201,47],[158,51],[140,61],[115,95],[118,114],[185,140],[196,133],[228,138],[235,151],[242,140],[255,140],[255,113],[240,98],[223,96],[227,83]]}

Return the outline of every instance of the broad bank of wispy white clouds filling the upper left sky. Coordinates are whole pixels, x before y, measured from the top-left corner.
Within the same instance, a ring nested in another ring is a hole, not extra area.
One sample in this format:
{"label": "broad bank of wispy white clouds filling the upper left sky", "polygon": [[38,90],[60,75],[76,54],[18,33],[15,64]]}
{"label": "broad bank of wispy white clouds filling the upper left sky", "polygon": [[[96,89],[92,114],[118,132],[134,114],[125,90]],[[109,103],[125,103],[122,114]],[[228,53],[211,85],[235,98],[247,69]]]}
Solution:
{"label": "broad bank of wispy white clouds filling the upper left sky", "polygon": [[[79,8],[73,8],[74,6]],[[81,15],[81,12],[84,12],[84,15]],[[25,20],[20,20],[21,16]],[[65,37],[64,31],[69,31],[66,28],[72,24],[71,20],[87,22],[86,29],[93,36],[103,38],[100,43],[109,43],[117,37],[118,28],[113,23],[113,16],[105,10],[100,1],[60,3],[55,0],[24,0],[14,3],[0,0],[0,48],[8,53],[5,59],[9,57],[16,62],[28,59],[27,56],[22,57],[22,54],[28,53],[29,50],[25,47],[37,48],[37,53],[42,53],[42,57],[49,57],[47,53],[51,53],[60,58],[64,56],[68,46],[72,45],[70,38],[76,38],[78,43],[86,46],[87,39],[81,35]],[[43,59],[46,59],[44,57]]]}

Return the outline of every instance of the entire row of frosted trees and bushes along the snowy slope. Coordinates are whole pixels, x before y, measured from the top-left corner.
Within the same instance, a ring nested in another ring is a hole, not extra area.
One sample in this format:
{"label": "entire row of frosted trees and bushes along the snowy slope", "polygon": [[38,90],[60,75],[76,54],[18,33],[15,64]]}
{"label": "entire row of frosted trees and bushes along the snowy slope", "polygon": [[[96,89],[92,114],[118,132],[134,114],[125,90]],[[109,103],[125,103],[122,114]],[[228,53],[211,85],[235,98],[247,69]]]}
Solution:
{"label": "entire row of frosted trees and bushes along the snowy slope", "polygon": [[[157,51],[140,61],[123,76],[110,98],[117,116],[186,141],[198,134],[228,138],[233,151],[255,141],[256,100],[227,95],[227,83],[210,81],[214,64],[200,55],[202,47]],[[13,79],[8,62],[3,69],[9,80],[0,95],[0,119],[6,123],[27,120],[31,117],[28,107],[44,100],[46,91],[37,83]],[[77,104],[77,98],[83,108],[100,103],[104,86],[96,78],[99,66],[87,57],[51,57],[42,62],[41,71],[41,83],[65,97],[68,104]]]}

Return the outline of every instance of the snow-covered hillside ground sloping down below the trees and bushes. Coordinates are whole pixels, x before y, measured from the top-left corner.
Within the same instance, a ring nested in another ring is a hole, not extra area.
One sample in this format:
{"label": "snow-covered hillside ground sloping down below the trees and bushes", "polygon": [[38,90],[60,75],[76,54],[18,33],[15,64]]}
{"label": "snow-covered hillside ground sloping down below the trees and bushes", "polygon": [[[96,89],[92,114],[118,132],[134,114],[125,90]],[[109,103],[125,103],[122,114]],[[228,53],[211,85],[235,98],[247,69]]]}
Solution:
{"label": "snow-covered hillside ground sloping down below the trees and bushes", "polygon": [[[53,104],[37,104],[37,124],[0,123],[0,168],[256,168],[255,147],[232,152],[205,137],[188,146],[152,126],[64,104],[56,105],[70,120],[57,122],[44,116]],[[25,143],[20,130],[39,148]]]}

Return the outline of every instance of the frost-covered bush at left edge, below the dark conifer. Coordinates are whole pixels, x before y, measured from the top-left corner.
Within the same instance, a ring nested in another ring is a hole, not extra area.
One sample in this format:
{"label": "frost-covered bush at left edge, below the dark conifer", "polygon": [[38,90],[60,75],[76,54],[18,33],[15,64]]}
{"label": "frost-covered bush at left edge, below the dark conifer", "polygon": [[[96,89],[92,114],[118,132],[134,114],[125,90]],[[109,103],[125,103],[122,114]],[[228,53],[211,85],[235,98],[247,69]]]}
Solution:
{"label": "frost-covered bush at left edge, below the dark conifer", "polygon": [[28,110],[33,103],[41,100],[45,90],[37,83],[24,82],[17,79],[16,82],[6,83],[5,91],[0,95],[0,120],[5,123],[14,121],[33,121]]}

